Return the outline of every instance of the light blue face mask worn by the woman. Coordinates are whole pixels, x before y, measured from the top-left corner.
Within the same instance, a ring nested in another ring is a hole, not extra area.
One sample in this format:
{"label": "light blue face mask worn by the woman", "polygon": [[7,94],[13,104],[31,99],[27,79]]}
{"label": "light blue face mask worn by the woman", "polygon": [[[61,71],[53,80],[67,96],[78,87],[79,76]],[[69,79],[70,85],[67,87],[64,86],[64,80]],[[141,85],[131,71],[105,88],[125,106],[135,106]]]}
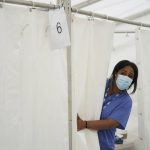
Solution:
{"label": "light blue face mask worn by the woman", "polygon": [[116,85],[120,90],[127,90],[131,85],[133,79],[128,76],[119,74],[116,79]]}

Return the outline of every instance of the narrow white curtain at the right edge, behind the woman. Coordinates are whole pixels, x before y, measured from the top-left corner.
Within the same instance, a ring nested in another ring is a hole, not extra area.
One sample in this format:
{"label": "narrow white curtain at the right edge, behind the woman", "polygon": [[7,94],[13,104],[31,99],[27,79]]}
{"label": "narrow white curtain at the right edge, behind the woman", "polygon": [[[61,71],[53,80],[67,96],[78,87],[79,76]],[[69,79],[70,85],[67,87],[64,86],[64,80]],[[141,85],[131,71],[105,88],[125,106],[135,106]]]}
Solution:
{"label": "narrow white curtain at the right edge, behind the woman", "polygon": [[136,34],[137,62],[139,67],[138,105],[139,137],[142,149],[150,149],[150,30],[138,30]]}

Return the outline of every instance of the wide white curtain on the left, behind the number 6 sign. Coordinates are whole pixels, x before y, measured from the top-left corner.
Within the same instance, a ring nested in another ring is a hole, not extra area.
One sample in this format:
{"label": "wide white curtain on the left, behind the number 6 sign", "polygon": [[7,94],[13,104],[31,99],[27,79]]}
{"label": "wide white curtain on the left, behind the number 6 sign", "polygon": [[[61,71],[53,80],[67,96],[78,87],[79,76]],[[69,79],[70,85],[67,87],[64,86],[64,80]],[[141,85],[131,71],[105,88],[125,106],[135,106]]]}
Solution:
{"label": "wide white curtain on the left, behind the number 6 sign", "polygon": [[0,149],[68,150],[66,50],[51,50],[48,12],[0,9]]}

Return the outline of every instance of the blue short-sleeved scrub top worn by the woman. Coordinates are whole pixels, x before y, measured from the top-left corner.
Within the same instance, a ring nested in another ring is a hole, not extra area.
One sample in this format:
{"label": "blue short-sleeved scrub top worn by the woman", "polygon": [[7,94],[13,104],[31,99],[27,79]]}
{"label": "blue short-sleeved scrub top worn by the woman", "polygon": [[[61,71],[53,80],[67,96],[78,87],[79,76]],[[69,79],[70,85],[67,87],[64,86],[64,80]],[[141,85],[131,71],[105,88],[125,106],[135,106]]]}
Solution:
{"label": "blue short-sleeved scrub top worn by the woman", "polygon": [[[114,119],[119,123],[117,128],[125,129],[132,107],[132,100],[127,91],[108,96],[109,80],[106,83],[104,102],[100,119]],[[115,149],[116,128],[98,131],[98,138],[101,150]]]}

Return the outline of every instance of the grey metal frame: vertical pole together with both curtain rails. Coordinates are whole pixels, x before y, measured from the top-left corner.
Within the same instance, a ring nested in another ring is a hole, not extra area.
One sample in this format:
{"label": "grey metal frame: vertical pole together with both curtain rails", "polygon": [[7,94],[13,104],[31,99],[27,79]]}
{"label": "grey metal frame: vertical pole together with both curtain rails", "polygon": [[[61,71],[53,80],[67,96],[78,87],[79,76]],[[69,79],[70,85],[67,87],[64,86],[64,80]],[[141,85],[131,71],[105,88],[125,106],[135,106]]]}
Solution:
{"label": "grey metal frame: vertical pole together with both curtain rails", "polygon": [[[39,2],[34,2],[34,1],[25,1],[25,0],[0,0],[0,6],[3,7],[5,3],[7,4],[17,4],[17,5],[25,5],[25,6],[30,6],[32,8],[46,8],[46,9],[59,9],[62,6],[64,6],[65,11],[66,11],[66,16],[67,16],[67,21],[68,21],[68,27],[69,27],[69,33],[71,37],[71,13],[78,13],[81,15],[86,15],[90,16],[93,18],[102,18],[102,19],[107,19],[115,22],[120,22],[120,23],[126,23],[130,25],[137,25],[140,27],[148,27],[150,28],[150,24],[145,24],[142,22],[136,22],[136,21],[130,21],[126,19],[120,19],[120,18],[115,18],[112,16],[104,15],[104,14],[99,14],[99,13],[93,13],[90,11],[85,11],[85,10],[77,10],[76,8],[71,8],[71,0],[58,0],[59,5],[53,5],[53,4],[45,4],[45,3],[39,3]],[[67,69],[68,69],[68,125],[69,125],[69,150],[72,150],[72,85],[71,85],[71,46],[67,48]]]}

